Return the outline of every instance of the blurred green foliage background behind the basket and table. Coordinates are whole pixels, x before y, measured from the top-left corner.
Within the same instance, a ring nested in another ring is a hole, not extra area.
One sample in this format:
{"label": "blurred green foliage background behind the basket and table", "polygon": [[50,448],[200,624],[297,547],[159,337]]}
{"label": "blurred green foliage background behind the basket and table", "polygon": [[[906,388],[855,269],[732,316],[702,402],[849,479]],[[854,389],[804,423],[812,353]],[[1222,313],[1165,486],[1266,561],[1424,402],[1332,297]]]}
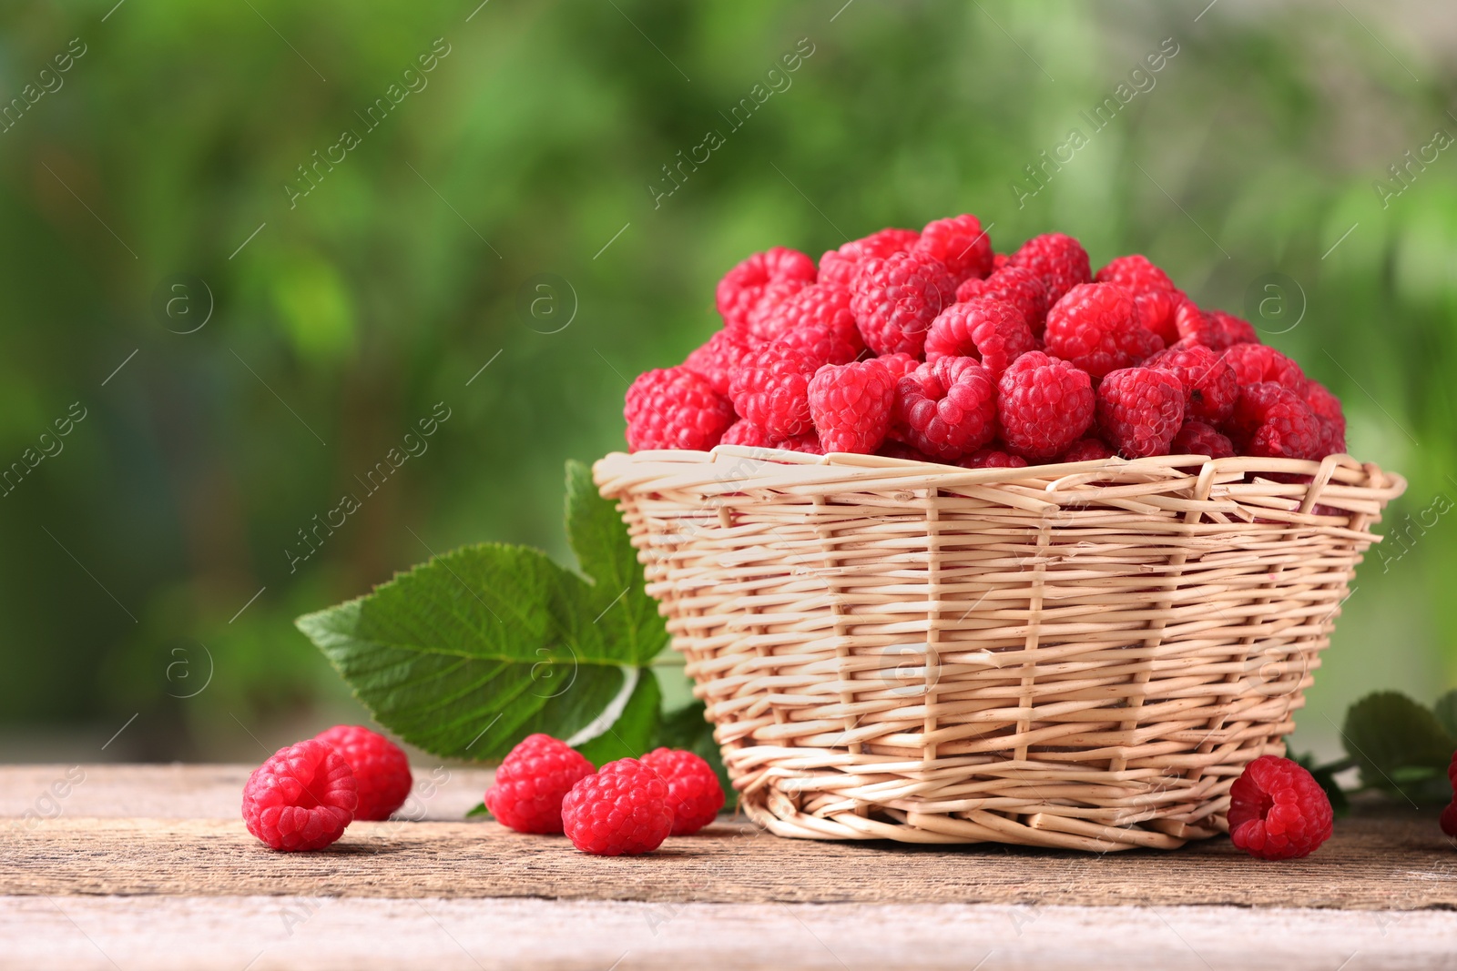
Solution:
{"label": "blurred green foliage background behind the basket and table", "polygon": [[1457,684],[1441,4],[114,1],[0,9],[0,463],[54,453],[0,502],[0,757],[255,760],[358,716],[296,614],[466,542],[564,556],[562,461],[622,445],[728,266],[962,211],[1254,317],[1410,479],[1297,747]]}

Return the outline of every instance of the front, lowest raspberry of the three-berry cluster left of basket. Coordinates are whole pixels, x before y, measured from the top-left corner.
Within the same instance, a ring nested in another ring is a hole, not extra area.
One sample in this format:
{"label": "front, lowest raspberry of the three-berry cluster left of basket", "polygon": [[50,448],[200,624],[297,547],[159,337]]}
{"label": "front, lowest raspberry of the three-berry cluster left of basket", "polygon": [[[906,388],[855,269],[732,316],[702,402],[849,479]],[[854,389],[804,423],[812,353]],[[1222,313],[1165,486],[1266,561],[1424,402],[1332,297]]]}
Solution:
{"label": "front, lowest raspberry of the three-berry cluster left of basket", "polygon": [[673,828],[673,806],[663,776],[637,758],[619,758],[571,788],[561,821],[583,853],[651,853]]}

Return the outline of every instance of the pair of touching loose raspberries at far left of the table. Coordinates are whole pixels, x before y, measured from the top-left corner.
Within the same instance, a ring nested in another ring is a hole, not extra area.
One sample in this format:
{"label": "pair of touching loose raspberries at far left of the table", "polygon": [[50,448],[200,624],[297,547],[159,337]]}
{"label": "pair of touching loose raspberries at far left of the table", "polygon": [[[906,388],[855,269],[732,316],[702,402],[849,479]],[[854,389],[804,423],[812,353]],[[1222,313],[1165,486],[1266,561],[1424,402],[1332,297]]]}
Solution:
{"label": "pair of touching loose raspberries at far left of the table", "polygon": [[399,745],[360,725],[335,725],[254,770],[243,823],[275,850],[322,850],[354,820],[388,820],[412,785]]}

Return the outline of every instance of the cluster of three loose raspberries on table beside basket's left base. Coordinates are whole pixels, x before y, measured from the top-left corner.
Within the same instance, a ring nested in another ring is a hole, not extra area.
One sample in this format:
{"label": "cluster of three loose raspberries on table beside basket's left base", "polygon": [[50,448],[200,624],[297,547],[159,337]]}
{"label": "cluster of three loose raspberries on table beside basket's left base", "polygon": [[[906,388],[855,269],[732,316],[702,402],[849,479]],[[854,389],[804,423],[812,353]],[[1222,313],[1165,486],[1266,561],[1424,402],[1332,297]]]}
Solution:
{"label": "cluster of three loose raspberries on table beside basket's left base", "polygon": [[718,776],[691,751],[654,748],[593,770],[551,735],[527,735],[495,770],[485,808],[517,833],[565,833],[583,853],[651,853],[696,833],[724,805]]}

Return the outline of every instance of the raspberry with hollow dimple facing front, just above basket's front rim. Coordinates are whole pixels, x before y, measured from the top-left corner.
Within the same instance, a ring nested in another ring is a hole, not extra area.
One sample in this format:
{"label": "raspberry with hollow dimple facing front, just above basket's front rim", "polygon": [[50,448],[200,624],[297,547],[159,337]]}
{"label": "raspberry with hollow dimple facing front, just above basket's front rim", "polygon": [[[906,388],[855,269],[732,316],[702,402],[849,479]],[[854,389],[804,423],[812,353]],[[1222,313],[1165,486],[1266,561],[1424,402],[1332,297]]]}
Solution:
{"label": "raspberry with hollow dimple facing front, just above basket's front rim", "polygon": [[997,434],[997,383],[969,357],[922,364],[896,386],[896,431],[937,459],[960,459]]}

